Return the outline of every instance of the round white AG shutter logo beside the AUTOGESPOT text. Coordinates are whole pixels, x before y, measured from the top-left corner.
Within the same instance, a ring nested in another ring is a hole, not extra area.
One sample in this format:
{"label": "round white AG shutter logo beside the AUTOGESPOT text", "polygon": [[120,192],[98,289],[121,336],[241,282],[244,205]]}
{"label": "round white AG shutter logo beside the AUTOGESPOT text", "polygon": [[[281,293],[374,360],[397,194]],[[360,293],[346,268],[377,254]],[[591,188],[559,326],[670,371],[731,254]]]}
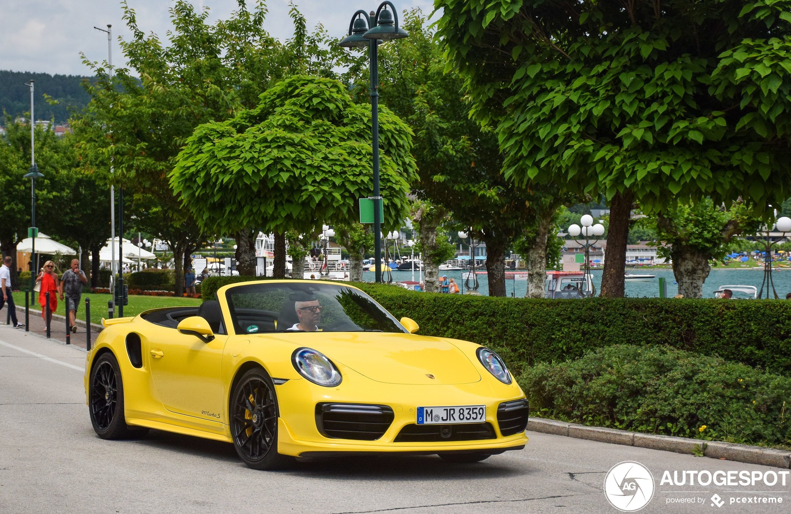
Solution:
{"label": "round white AG shutter logo beside the AUTOGESPOT text", "polygon": [[604,494],[619,511],[638,511],[653,497],[653,475],[641,463],[617,463],[604,477]]}

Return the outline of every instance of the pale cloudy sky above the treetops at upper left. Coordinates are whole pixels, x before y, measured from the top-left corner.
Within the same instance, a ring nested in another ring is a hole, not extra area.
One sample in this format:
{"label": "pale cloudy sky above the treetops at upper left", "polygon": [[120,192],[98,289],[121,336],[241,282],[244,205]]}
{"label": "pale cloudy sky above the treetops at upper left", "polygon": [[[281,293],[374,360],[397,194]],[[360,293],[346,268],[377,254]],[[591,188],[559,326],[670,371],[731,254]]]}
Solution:
{"label": "pale cloudy sky above the treetops at upper left", "polygon": [[[165,39],[170,27],[170,0],[128,0],[137,13],[138,26]],[[248,0],[252,9],[255,0]],[[191,0],[196,7],[210,8],[210,20],[229,16],[237,9],[236,0]],[[341,36],[357,9],[376,9],[376,0],[294,0],[308,19],[308,26],[323,24],[333,35]],[[395,0],[402,11],[420,7],[428,14],[433,0]],[[272,36],[286,39],[293,33],[288,15],[288,0],[268,0],[265,28]],[[112,25],[112,55],[115,66],[123,64],[117,37],[130,37],[121,19],[120,3],[115,0],[0,0],[0,70],[32,71],[48,74],[85,75],[80,52],[93,60],[107,59],[107,36],[93,27]]]}

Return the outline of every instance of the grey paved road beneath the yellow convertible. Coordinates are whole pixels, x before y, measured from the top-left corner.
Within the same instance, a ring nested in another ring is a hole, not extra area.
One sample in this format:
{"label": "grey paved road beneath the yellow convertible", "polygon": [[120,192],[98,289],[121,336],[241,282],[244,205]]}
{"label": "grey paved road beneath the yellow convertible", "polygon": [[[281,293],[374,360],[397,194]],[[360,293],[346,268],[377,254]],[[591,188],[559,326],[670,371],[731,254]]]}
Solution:
{"label": "grey paved road beneath the yellow convertible", "polygon": [[[785,487],[779,481],[774,487],[760,481],[660,485],[664,471],[781,471],[776,468],[541,433],[528,433],[524,451],[482,463],[454,465],[436,456],[343,459],[279,472],[250,470],[230,444],[195,437],[152,431],[141,440],[100,440],[77,369],[84,356],[0,327],[0,512],[617,512],[602,484],[625,460],[653,474],[656,492],[641,512],[791,508],[791,478]],[[721,508],[710,501],[714,493],[725,501]],[[752,503],[730,504],[742,497]],[[756,505],[763,497],[783,503]],[[688,498],[700,501],[668,503]]]}

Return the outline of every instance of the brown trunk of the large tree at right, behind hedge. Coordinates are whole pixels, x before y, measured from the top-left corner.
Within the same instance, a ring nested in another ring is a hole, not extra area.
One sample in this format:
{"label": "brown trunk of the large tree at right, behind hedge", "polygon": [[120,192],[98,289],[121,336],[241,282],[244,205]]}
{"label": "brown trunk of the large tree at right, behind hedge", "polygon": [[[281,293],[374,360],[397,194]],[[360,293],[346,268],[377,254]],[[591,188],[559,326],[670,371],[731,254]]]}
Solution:
{"label": "brown trunk of the large tree at right, behind hedge", "polygon": [[626,270],[626,238],[634,195],[631,191],[616,193],[610,201],[610,229],[607,231],[607,259],[601,275],[601,296],[623,298]]}

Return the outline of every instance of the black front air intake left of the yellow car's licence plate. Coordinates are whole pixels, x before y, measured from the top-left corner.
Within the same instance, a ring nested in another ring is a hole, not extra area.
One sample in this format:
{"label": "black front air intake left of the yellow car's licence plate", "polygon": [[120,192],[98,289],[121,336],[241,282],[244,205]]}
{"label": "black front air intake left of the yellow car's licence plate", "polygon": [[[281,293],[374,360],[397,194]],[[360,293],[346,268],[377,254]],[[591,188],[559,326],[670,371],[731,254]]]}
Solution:
{"label": "black front air intake left of the yellow car's licence plate", "polygon": [[333,439],[377,440],[388,431],[393,418],[393,410],[386,405],[316,404],[316,428]]}

